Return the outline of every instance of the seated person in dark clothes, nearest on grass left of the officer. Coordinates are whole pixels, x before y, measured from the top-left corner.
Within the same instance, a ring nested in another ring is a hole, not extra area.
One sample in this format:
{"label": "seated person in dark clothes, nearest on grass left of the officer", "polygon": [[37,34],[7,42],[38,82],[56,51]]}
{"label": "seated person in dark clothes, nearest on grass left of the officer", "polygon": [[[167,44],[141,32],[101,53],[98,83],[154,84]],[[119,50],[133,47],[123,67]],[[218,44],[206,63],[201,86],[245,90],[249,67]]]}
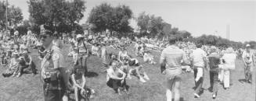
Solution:
{"label": "seated person in dark clothes, nearest on grass left of the officer", "polygon": [[30,70],[34,75],[37,74],[37,70],[35,68],[35,64],[33,62],[33,59],[31,55],[28,54],[27,50],[23,51],[22,55],[20,56],[20,63],[19,67],[17,69],[18,75],[16,77],[20,77],[23,72],[29,72]]}

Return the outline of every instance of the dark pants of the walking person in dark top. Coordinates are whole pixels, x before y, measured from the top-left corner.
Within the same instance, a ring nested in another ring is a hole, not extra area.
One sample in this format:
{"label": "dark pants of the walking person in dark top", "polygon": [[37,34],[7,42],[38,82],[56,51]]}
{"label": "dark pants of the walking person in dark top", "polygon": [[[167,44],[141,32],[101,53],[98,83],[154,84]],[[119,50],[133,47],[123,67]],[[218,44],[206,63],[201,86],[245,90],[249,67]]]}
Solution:
{"label": "dark pants of the walking person in dark top", "polygon": [[213,93],[218,92],[218,71],[210,71],[210,84]]}

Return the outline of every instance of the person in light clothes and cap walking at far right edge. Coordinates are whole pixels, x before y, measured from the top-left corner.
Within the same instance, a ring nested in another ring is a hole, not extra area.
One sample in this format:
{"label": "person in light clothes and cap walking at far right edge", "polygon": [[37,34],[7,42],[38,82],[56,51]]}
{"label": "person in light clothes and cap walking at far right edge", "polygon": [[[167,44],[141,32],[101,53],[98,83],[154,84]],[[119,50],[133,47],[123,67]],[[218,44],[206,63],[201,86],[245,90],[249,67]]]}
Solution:
{"label": "person in light clothes and cap walking at far right edge", "polygon": [[252,82],[252,71],[254,66],[254,55],[251,51],[251,45],[246,45],[246,50],[243,51],[243,64],[245,66],[244,68],[244,75],[245,79],[248,83]]}

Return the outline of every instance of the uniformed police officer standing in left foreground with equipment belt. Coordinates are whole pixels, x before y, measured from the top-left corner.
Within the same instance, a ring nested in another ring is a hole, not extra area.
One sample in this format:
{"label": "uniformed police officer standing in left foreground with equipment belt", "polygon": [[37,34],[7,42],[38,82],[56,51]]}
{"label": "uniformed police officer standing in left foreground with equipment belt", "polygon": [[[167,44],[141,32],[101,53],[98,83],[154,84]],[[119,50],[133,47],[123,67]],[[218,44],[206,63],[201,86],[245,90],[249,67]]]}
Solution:
{"label": "uniformed police officer standing in left foreground with equipment belt", "polygon": [[41,77],[44,79],[43,90],[45,101],[67,100],[64,92],[69,89],[69,72],[65,67],[63,52],[52,43],[52,34],[47,32],[43,47],[48,51],[41,61]]}

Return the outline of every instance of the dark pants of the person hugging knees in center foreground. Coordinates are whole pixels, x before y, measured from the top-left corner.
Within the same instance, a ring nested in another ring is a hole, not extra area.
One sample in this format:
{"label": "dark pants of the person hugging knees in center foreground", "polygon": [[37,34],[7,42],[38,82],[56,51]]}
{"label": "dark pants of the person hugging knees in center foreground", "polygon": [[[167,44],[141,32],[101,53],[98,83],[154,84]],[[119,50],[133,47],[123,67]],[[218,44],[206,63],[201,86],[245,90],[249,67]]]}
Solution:
{"label": "dark pants of the person hugging knees in center foreground", "polygon": [[124,79],[124,83],[121,84],[121,80],[120,79],[112,79],[110,78],[110,80],[108,82],[106,82],[106,85],[108,85],[110,88],[114,89],[115,92],[117,92],[117,89],[119,87],[122,87],[124,89],[126,89],[126,81]]}

